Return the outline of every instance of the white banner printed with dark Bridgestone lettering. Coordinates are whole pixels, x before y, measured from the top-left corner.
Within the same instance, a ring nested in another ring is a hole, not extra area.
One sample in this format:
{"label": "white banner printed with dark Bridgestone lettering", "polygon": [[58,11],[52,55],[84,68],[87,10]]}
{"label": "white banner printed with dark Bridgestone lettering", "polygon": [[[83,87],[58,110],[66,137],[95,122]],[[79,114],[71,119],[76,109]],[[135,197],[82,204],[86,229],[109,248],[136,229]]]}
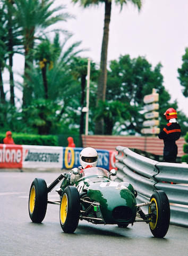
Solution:
{"label": "white banner printed with dark Bridgestone lettering", "polygon": [[23,147],[23,168],[62,168],[63,148],[51,146]]}

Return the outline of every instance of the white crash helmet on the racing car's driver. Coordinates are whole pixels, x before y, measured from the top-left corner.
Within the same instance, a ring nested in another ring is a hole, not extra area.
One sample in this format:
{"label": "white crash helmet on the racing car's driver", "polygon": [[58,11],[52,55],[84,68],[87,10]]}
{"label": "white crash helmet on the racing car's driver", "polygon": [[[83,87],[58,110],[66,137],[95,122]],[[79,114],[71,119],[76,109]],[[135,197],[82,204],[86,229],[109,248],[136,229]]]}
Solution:
{"label": "white crash helmet on the racing car's driver", "polygon": [[98,161],[98,153],[94,148],[84,148],[80,153],[80,164],[82,168],[86,168],[86,166],[91,165],[92,167],[97,166]]}

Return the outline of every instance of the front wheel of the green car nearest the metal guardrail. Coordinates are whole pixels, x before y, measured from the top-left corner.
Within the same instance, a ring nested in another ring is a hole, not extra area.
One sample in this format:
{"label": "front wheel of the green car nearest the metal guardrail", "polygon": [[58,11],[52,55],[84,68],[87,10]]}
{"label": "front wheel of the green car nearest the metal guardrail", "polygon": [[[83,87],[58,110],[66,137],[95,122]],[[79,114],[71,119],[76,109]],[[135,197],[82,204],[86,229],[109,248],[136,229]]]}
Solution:
{"label": "front wheel of the green car nearest the metal guardrail", "polygon": [[151,214],[149,227],[155,237],[164,237],[170,223],[170,206],[168,197],[162,190],[156,190],[151,198],[148,213]]}

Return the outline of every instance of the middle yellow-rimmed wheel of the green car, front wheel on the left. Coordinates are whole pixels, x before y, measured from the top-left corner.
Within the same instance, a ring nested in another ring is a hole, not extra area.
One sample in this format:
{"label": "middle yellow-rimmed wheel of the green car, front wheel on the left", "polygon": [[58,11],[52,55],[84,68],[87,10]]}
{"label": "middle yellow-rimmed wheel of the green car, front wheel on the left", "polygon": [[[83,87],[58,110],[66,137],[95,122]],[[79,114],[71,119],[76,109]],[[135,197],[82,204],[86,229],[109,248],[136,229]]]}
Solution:
{"label": "middle yellow-rimmed wheel of the green car, front wheel on the left", "polygon": [[76,187],[67,186],[61,198],[60,224],[65,233],[74,233],[80,218],[80,196]]}

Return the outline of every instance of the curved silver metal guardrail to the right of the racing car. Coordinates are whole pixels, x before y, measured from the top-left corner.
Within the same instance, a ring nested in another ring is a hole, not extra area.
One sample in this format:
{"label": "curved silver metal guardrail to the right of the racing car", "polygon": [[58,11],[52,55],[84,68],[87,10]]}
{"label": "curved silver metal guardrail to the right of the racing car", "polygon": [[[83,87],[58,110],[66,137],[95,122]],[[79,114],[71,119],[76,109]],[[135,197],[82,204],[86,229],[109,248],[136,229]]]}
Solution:
{"label": "curved silver metal guardrail to the right of the racing car", "polygon": [[130,182],[138,203],[150,199],[154,190],[164,190],[170,203],[170,223],[188,227],[188,165],[158,162],[117,146],[117,180]]}

